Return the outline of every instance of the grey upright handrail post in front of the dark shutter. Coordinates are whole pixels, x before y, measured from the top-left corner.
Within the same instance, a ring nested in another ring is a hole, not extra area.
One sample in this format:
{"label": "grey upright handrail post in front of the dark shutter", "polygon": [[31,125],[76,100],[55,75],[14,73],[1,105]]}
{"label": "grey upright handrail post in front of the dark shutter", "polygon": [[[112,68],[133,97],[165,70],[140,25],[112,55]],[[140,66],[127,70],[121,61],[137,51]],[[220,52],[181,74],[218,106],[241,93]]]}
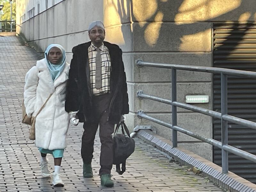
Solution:
{"label": "grey upright handrail post in front of the dark shutter", "polygon": [[[228,114],[228,76],[221,73],[221,142],[222,146],[228,144],[228,121],[223,115]],[[228,173],[228,151],[221,149],[222,173]]]}

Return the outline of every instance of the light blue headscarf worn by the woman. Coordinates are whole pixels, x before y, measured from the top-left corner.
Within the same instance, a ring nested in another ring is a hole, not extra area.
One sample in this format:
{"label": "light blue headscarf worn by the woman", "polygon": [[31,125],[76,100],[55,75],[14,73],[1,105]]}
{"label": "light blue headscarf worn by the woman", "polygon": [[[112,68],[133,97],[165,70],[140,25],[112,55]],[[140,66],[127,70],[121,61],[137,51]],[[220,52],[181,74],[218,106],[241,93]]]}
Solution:
{"label": "light blue headscarf worn by the woman", "polygon": [[[47,59],[47,55],[49,54],[49,51],[52,47],[58,47],[62,53],[62,59],[60,61],[60,63],[58,64],[52,64],[48,59]],[[60,44],[50,44],[45,52],[44,52],[44,57],[47,60],[47,66],[49,68],[49,71],[51,73],[52,76],[52,80],[54,81],[54,79],[57,79],[58,76],[60,76],[60,73],[63,71],[65,64],[66,64],[66,52],[64,50],[64,48],[60,45]]]}

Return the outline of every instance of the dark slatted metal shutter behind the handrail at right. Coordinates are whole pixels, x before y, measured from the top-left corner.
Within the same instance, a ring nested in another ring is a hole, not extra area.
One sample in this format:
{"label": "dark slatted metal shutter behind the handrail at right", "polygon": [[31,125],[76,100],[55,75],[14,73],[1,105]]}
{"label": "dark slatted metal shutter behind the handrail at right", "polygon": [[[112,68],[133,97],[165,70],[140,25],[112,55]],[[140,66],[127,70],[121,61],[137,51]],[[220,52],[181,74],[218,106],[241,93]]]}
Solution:
{"label": "dark slatted metal shutter behind the handrail at right", "polygon": [[[256,24],[213,25],[213,67],[256,71]],[[220,75],[213,75],[213,110],[220,111]],[[228,114],[256,122],[256,79],[228,76]],[[221,140],[221,122],[213,118],[213,138]],[[256,130],[228,124],[228,144],[256,155]],[[229,153],[229,171],[256,183],[256,164]],[[221,150],[213,148],[221,166]]]}

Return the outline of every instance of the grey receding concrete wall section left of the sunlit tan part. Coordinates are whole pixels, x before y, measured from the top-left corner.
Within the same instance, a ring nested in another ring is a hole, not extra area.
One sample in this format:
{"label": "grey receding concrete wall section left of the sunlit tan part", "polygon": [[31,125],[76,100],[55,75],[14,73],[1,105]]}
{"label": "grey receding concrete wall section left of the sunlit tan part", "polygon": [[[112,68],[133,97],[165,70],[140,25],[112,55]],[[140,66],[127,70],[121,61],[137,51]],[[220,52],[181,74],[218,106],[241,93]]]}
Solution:
{"label": "grey receding concrete wall section left of the sunlit tan part", "polygon": [[[92,12],[88,14],[85,10]],[[87,29],[92,20],[103,20],[101,0],[63,0],[21,24],[17,19],[16,30],[39,52],[43,52],[51,43],[61,44],[66,49],[70,62],[72,47],[89,41]]]}

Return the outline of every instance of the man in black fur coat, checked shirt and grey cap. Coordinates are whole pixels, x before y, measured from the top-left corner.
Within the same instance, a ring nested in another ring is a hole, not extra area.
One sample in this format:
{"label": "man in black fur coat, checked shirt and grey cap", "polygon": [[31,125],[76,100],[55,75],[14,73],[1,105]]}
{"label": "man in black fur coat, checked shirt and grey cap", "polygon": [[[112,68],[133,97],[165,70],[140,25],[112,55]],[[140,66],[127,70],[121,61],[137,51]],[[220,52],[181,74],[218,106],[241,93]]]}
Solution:
{"label": "man in black fur coat, checked shirt and grey cap", "polygon": [[120,117],[129,113],[122,50],[103,41],[105,28],[101,21],[93,21],[88,33],[91,41],[72,49],[65,109],[70,114],[78,111],[79,122],[84,122],[81,155],[86,178],[93,177],[93,144],[100,125],[100,180],[101,185],[112,187],[112,133]]}

